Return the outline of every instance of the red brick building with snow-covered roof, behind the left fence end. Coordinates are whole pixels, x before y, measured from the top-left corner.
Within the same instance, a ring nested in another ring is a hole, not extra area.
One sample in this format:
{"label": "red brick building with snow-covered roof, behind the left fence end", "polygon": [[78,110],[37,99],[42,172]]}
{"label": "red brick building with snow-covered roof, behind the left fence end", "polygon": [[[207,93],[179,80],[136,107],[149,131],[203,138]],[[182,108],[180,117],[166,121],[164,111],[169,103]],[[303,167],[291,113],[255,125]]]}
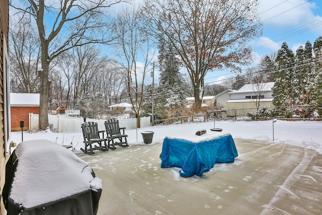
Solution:
{"label": "red brick building with snow-covered roof, behind the left fence end", "polygon": [[39,98],[39,93],[10,94],[11,131],[21,130],[21,121],[23,130],[29,129],[29,113],[39,114]]}

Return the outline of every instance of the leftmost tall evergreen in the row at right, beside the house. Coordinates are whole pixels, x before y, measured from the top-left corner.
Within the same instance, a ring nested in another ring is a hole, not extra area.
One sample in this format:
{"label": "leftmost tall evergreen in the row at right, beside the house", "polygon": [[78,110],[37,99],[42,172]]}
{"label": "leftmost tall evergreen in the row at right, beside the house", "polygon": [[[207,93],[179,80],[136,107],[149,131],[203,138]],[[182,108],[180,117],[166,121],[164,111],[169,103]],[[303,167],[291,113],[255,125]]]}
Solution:
{"label": "leftmost tall evergreen in the row at right, beside the house", "polygon": [[283,42],[277,52],[276,62],[278,70],[274,74],[274,87],[272,95],[275,106],[293,105],[294,100],[294,53],[288,48],[286,42]]}

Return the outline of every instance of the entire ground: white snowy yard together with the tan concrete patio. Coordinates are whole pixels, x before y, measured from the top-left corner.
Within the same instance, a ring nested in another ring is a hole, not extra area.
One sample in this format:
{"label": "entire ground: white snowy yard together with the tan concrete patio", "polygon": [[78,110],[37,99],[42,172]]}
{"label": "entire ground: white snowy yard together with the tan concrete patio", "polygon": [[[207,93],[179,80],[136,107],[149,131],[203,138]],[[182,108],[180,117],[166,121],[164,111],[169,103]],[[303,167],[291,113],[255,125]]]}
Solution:
{"label": "entire ground: white snowy yard together with the tan concrete patio", "polygon": [[[130,147],[86,155],[82,133],[23,133],[24,140],[72,142],[75,153],[102,179],[98,214],[319,214],[322,211],[322,122],[216,121],[126,130]],[[230,133],[238,157],[215,164],[203,177],[182,178],[180,168],[160,168],[165,136],[202,138]],[[142,131],[154,131],[151,144]],[[13,133],[19,143],[21,132]]]}

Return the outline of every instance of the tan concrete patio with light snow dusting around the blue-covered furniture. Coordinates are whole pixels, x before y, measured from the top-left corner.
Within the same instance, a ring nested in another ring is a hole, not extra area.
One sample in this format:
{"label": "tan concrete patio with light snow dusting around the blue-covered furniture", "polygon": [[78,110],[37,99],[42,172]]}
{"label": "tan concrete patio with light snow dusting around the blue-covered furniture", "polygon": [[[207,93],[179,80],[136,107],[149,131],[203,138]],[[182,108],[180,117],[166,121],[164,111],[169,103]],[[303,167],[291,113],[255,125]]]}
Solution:
{"label": "tan concrete patio with light snow dusting around the blue-covered furniture", "polygon": [[103,180],[98,214],[320,214],[322,155],[303,147],[234,138],[234,163],[182,178],[160,168],[162,141],[78,154]]}

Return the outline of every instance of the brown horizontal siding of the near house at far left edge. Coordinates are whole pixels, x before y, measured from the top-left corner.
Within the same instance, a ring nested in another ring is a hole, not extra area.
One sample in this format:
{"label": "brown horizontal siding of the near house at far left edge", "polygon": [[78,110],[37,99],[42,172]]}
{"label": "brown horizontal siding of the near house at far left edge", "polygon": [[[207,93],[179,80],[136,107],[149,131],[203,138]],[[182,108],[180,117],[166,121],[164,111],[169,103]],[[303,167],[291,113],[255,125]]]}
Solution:
{"label": "brown horizontal siding of the near house at far left edge", "polygon": [[0,2],[0,215],[6,212],[2,198],[2,190],[5,184],[5,170],[7,162],[7,137],[6,137],[6,55],[8,56],[8,31],[9,31],[9,1],[2,0]]}

